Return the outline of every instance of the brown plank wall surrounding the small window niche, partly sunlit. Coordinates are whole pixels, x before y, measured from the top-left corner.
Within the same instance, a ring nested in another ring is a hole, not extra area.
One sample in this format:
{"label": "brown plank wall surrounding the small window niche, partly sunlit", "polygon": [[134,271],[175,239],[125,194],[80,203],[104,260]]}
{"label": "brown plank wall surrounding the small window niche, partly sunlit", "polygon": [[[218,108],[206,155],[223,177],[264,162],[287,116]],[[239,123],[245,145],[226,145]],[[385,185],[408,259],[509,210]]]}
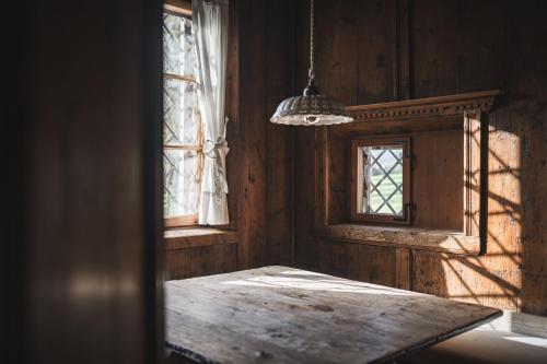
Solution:
{"label": "brown plank wall surrounding the small window niche, partly sunlit", "polygon": [[[295,81],[307,69],[295,2]],[[547,315],[547,3],[317,0],[318,84],[347,105],[502,89],[488,119],[488,242],[481,257],[325,242],[313,234],[318,129],[295,132],[295,263],[365,281]],[[344,168],[333,174],[348,173]],[[399,282],[399,283],[398,283]]]}

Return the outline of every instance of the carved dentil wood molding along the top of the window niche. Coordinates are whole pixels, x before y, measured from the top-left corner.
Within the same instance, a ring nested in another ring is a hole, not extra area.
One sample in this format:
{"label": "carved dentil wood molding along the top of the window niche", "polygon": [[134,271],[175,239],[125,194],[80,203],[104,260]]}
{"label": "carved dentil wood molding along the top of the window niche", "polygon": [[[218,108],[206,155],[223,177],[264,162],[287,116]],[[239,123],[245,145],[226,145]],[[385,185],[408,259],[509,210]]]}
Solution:
{"label": "carved dentil wood molding along the top of the window niche", "polygon": [[499,90],[491,90],[449,96],[347,106],[346,111],[356,119],[354,122],[463,115],[470,110],[489,113],[493,106],[496,96],[500,93]]}

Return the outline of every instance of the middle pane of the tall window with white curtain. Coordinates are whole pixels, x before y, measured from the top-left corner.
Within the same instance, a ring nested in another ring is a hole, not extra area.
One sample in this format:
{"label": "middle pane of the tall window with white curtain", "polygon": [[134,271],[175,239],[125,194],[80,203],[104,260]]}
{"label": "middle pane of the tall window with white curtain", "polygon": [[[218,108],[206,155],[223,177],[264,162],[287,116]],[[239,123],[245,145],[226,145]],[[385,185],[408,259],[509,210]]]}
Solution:
{"label": "middle pane of the tall window with white curtain", "polygon": [[193,82],[163,81],[164,144],[197,145],[197,90]]}

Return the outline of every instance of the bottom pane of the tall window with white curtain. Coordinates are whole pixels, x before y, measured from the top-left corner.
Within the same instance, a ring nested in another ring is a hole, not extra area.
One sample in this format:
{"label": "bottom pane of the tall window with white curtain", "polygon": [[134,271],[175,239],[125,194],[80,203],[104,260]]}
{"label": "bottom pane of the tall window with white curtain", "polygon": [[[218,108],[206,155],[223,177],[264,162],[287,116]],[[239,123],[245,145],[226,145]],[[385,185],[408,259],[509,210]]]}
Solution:
{"label": "bottom pane of the tall window with white curtain", "polygon": [[199,157],[195,151],[164,150],[165,218],[197,214]]}

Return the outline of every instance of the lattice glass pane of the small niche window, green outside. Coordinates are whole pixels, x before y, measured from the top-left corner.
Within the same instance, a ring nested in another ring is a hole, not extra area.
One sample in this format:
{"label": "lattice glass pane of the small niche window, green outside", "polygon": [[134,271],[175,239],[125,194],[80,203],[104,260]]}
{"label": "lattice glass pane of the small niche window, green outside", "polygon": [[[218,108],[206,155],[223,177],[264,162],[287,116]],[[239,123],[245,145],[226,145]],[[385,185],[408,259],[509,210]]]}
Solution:
{"label": "lattice glass pane of the small niche window, green outside", "polygon": [[362,146],[364,213],[403,215],[403,146]]}

